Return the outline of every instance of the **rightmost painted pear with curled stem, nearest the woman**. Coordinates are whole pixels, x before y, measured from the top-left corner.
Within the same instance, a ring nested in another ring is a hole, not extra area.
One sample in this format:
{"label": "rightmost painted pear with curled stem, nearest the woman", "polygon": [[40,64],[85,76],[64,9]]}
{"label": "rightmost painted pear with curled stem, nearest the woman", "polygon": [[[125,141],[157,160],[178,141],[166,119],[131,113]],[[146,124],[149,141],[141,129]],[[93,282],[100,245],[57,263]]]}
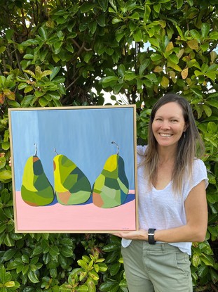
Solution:
{"label": "rightmost painted pear with curled stem, nearest the woman", "polygon": [[[111,143],[116,144],[114,141]],[[118,148],[117,144],[116,146]],[[128,196],[129,183],[125,175],[123,158],[118,152],[109,156],[93,185],[93,203],[97,207],[114,208],[122,205]]]}

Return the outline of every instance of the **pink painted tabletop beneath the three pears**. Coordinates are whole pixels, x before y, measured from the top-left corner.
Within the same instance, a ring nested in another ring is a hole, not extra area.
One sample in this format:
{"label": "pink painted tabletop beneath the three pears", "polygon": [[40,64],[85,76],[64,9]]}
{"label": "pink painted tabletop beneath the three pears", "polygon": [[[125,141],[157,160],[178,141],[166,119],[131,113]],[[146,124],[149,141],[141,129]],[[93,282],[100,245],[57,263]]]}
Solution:
{"label": "pink painted tabletop beneath the three pears", "polygon": [[136,229],[135,200],[116,208],[103,209],[88,205],[49,205],[32,207],[15,192],[16,231],[116,231]]}

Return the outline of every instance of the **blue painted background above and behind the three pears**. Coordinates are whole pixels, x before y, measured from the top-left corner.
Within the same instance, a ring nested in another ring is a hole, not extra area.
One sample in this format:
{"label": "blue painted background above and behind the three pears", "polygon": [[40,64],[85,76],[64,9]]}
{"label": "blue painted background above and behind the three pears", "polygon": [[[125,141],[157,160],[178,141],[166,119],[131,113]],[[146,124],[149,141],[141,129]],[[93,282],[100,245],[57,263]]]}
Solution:
{"label": "blue painted background above and behind the three pears", "polygon": [[130,189],[135,189],[134,108],[61,108],[11,110],[15,190],[20,191],[22,172],[29,156],[37,156],[52,185],[53,158],[66,155],[86,174],[91,186],[110,155],[117,152],[125,162]]}

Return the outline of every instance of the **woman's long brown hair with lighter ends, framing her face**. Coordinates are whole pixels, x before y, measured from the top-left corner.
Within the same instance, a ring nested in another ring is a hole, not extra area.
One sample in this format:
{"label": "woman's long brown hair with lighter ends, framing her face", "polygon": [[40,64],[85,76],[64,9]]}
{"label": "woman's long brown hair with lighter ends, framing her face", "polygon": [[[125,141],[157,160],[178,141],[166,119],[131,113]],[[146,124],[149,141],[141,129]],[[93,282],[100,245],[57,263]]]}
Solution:
{"label": "woman's long brown hair with lighter ends, framing her face", "polygon": [[159,163],[157,141],[152,131],[152,123],[156,115],[156,111],[166,103],[175,102],[182,108],[184,121],[186,124],[186,132],[182,134],[182,137],[178,141],[177,155],[175,158],[175,164],[172,170],[172,187],[173,190],[182,193],[182,180],[186,169],[189,176],[191,176],[193,160],[198,156],[197,152],[203,154],[204,145],[203,141],[196,127],[196,123],[193,117],[193,112],[189,102],[184,97],[178,94],[166,94],[159,99],[153,109],[151,110],[151,117],[149,120],[149,133],[148,133],[148,146],[145,152],[144,164],[146,165],[146,174],[149,179],[149,184],[154,184],[156,180],[156,173]]}

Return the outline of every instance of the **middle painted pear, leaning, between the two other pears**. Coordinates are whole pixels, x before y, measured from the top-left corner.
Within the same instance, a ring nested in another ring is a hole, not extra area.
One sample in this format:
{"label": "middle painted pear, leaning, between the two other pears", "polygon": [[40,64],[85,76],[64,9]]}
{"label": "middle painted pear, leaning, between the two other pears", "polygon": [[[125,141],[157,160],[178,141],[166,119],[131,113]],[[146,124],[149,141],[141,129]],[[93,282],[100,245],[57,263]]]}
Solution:
{"label": "middle painted pear, leaning, between the two other pears", "polygon": [[62,205],[86,203],[91,196],[91,186],[86,175],[65,155],[57,154],[53,165],[57,201]]}

